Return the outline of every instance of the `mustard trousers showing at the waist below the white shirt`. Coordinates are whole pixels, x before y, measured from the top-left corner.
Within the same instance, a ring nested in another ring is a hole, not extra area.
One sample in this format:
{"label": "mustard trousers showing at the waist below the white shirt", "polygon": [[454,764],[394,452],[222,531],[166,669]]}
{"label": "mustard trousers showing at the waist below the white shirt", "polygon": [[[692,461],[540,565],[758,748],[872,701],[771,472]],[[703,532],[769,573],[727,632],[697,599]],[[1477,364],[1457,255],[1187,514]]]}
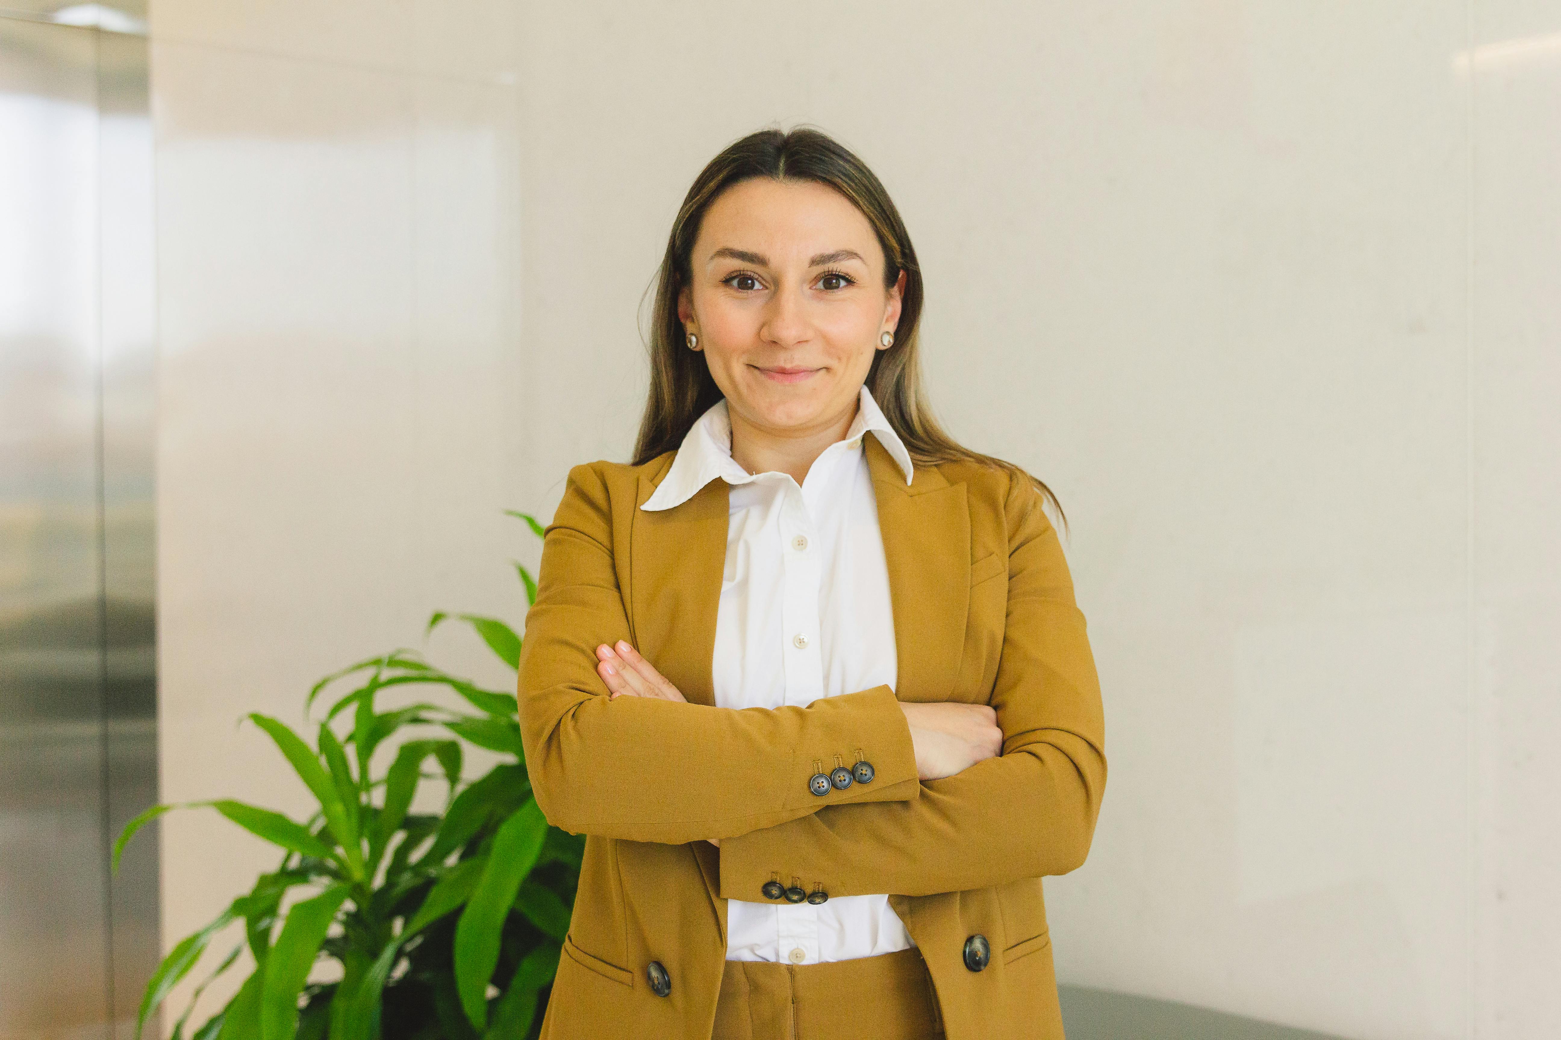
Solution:
{"label": "mustard trousers showing at the waist below the white shirt", "polygon": [[710,1040],[937,1040],[921,951],[824,964],[727,960]]}

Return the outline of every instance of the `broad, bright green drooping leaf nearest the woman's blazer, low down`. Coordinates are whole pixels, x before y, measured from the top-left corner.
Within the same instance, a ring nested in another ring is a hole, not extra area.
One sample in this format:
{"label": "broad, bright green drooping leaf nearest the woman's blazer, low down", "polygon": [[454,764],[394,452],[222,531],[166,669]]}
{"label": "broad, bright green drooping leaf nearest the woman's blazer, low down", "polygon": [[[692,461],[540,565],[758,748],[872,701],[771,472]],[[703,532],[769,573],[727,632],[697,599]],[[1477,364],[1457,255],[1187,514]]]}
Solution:
{"label": "broad, bright green drooping leaf nearest the woman's blazer, low down", "polygon": [[504,918],[515,903],[520,883],[542,853],[548,822],[535,798],[504,820],[493,837],[493,851],[476,892],[467,900],[456,925],[456,990],[467,1018],[478,1031],[487,1026],[487,987],[498,967]]}

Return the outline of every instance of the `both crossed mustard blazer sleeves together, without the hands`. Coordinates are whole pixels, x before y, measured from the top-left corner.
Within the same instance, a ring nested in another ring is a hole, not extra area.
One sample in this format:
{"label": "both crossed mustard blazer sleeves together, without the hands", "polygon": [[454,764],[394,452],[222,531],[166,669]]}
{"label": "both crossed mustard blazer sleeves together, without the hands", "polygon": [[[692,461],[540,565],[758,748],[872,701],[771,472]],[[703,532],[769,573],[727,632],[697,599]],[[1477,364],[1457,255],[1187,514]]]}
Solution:
{"label": "both crossed mustard blazer sleeves together, without the hands", "polygon": [[[1007,502],[1008,602],[990,702],[1002,753],[938,780],[918,780],[887,686],[774,709],[615,695],[598,666],[621,669],[624,650],[601,661],[598,647],[626,641],[628,619],[603,494],[571,472],[526,625],[521,733],[549,820],[629,840],[715,839],[721,895],[743,900],[773,873],[827,878],[830,895],[929,895],[1083,862],[1105,786],[1101,694],[1033,488],[1015,486]],[[876,783],[821,805],[799,776],[851,748],[869,748]]]}

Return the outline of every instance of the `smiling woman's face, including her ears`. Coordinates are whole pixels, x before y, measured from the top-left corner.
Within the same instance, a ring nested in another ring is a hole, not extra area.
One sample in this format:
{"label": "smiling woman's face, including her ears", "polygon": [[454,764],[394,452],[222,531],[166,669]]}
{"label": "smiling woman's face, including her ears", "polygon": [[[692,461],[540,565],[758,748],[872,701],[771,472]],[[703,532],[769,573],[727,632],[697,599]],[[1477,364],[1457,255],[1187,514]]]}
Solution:
{"label": "smiling woman's face, including her ears", "polygon": [[848,421],[905,274],[832,187],[754,178],[706,210],[677,318],[699,337],[734,427],[807,435]]}

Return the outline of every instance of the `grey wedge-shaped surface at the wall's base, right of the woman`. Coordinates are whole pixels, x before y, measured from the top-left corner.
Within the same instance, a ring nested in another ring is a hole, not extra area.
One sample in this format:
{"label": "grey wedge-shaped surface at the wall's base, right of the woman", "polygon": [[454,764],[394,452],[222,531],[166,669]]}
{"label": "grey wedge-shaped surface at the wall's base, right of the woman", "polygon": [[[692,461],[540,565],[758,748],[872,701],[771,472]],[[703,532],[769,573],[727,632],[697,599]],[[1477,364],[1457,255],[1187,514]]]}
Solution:
{"label": "grey wedge-shaped surface at the wall's base, right of the woman", "polygon": [[1341,1040],[1147,996],[1057,987],[1068,1040]]}

